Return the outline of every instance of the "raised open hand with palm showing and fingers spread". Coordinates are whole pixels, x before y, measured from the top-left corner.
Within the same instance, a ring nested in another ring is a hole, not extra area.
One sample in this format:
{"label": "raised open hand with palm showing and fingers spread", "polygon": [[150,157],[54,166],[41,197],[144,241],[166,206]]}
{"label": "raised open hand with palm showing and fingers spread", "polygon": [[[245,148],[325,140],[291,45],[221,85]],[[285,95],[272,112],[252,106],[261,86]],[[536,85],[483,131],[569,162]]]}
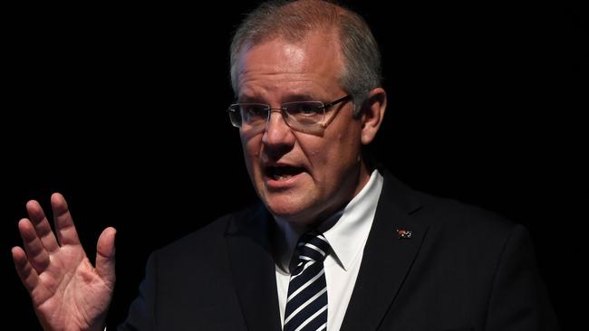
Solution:
{"label": "raised open hand with palm showing and fingers spread", "polygon": [[16,271],[45,330],[101,330],[115,283],[116,230],[101,233],[94,268],[63,195],[53,194],[51,205],[57,238],[41,205],[26,203],[29,218],[18,222],[24,250],[12,249]]}

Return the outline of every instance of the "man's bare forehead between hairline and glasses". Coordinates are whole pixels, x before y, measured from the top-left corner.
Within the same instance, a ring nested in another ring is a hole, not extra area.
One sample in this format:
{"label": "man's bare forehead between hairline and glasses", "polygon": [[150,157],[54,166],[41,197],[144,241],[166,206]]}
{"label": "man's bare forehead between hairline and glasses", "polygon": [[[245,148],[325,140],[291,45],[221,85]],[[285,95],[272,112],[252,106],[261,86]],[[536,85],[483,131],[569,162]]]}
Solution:
{"label": "man's bare forehead between hairline and glasses", "polygon": [[278,37],[247,45],[237,63],[239,94],[328,94],[340,90],[343,61],[337,40],[332,33],[312,33],[299,42]]}

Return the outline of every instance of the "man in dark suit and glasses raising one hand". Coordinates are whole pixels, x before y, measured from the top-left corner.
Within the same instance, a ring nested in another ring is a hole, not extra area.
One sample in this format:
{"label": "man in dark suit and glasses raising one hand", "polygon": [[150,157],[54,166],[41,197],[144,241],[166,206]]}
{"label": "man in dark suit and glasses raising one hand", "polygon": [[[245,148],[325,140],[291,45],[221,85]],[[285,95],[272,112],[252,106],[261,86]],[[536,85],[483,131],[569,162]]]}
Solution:
{"label": "man in dark suit and glasses raising one hand", "polygon": [[[413,191],[365,155],[387,96],[357,14],[261,5],[237,29],[231,79],[261,203],[154,252],[121,330],[557,329],[523,228]],[[94,268],[62,195],[52,208],[57,239],[27,203],[16,270],[43,327],[99,330],[115,230]]]}

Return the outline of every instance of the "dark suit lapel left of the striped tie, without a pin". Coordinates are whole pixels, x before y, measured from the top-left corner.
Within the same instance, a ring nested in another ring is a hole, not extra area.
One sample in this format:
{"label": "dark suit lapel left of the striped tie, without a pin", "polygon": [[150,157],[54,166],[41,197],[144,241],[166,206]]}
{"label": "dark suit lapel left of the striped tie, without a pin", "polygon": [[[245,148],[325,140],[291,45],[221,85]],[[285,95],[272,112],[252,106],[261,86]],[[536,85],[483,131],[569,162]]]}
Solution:
{"label": "dark suit lapel left of the striped tie, without a pin", "polygon": [[227,230],[231,273],[248,330],[281,328],[270,226],[266,210],[260,207],[232,220]]}

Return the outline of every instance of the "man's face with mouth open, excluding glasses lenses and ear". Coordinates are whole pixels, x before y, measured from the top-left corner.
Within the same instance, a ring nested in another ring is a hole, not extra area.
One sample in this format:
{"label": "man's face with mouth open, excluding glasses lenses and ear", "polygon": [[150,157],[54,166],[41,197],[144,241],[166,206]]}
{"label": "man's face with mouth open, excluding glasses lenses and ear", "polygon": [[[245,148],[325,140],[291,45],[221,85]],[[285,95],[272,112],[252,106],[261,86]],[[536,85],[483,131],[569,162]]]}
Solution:
{"label": "man's face with mouth open, excluding glasses lenses and ear", "polygon": [[[245,47],[237,67],[239,102],[282,103],[340,99],[343,59],[334,35],[315,33],[291,43],[277,38]],[[368,180],[361,158],[362,121],[351,101],[334,105],[337,116],[323,135],[288,127],[279,112],[266,126],[240,129],[249,176],[277,217],[300,225],[322,221],[343,207]]]}

